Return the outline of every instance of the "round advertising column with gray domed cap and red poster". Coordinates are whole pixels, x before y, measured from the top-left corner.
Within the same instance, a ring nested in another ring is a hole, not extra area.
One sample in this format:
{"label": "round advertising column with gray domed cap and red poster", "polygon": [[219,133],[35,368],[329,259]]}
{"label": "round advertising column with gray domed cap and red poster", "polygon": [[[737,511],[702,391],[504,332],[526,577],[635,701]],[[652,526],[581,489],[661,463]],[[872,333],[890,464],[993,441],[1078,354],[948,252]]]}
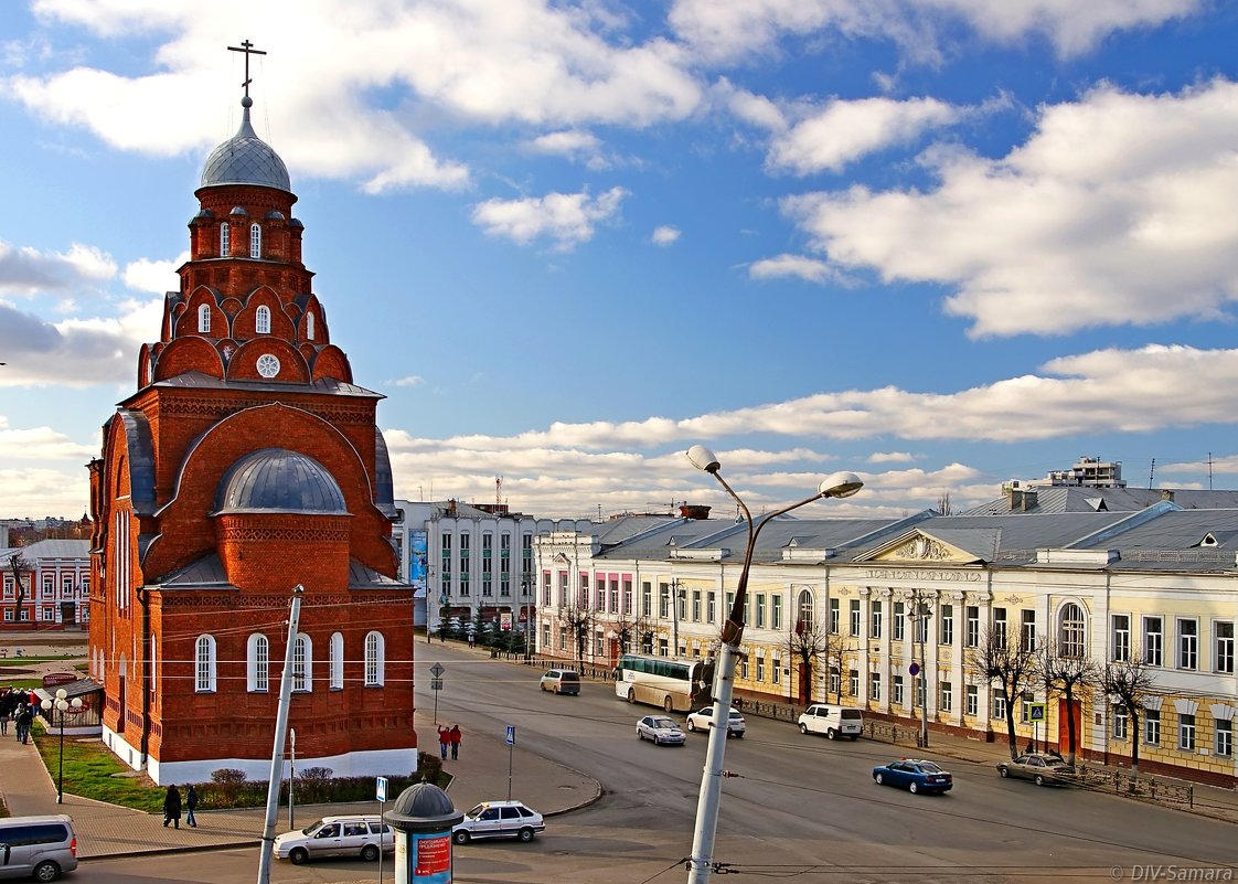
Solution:
{"label": "round advertising column with gray domed cap and red poster", "polygon": [[432,782],[400,792],[383,815],[395,830],[396,884],[452,884],[452,827],[463,818],[447,792]]}

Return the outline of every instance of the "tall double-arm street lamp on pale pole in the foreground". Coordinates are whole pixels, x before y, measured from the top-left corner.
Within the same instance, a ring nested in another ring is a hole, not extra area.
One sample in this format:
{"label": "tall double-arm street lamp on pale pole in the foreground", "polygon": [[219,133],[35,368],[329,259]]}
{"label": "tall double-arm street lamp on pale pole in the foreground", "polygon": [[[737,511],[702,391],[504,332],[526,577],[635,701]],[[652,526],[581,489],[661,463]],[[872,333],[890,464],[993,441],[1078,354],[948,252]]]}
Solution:
{"label": "tall double-arm street lamp on pale pole in the foreground", "polygon": [[718,480],[727,494],[739,505],[748,522],[748,545],[744,548],[744,565],[739,571],[739,583],[735,587],[735,600],[730,614],[722,628],[722,660],[717,665],[713,688],[713,719],[709,726],[709,748],[706,754],[704,773],[701,776],[701,797],[697,800],[696,831],[692,834],[692,854],[688,858],[688,884],[706,884],[713,870],[713,838],[718,830],[718,804],[722,795],[723,756],[727,752],[727,719],[730,714],[730,697],[735,685],[735,667],[739,662],[739,645],[744,640],[744,608],[748,596],[748,571],[753,563],[753,550],[756,535],[771,519],[790,513],[794,509],[811,504],[822,498],[849,498],[863,488],[864,483],[854,473],[834,473],[821,483],[817,493],[800,503],[784,506],[775,513],[761,516],[755,522],[748,505],[732,490],[719,470],[722,464],[713,452],[704,446],[695,444],[687,451],[688,461],[697,469],[703,469]]}

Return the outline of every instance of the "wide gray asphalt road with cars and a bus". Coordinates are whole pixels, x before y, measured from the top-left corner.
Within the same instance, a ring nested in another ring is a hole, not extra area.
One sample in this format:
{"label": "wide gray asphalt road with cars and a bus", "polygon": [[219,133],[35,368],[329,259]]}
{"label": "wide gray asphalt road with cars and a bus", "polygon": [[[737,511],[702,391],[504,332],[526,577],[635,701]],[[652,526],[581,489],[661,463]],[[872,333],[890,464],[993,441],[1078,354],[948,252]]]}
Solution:
{"label": "wide gray asphalt road with cars and a bus", "polygon": [[[540,672],[436,645],[418,662],[418,728],[433,733],[428,672],[447,669],[438,719],[501,738],[515,724],[525,749],[595,778],[603,797],[553,817],[531,844],[457,848],[456,880],[491,884],[666,884],[682,882],[706,739],[654,747],[635,737],[649,709],[586,683],[579,697],[537,690]],[[421,695],[423,686],[425,695]],[[465,748],[465,752],[468,747]],[[896,749],[803,737],[786,723],[749,717],[748,735],[727,747],[716,880],[917,884],[952,882],[1233,880],[1217,872],[1238,856],[1238,828],[1103,794],[1037,789],[1000,779],[988,765],[940,759],[954,774],[945,796],[878,786],[872,768]],[[467,755],[465,755],[467,758]],[[505,796],[506,782],[495,784]],[[519,796],[517,796],[519,797]],[[219,882],[253,877],[253,851],[183,858],[92,862],[89,880]],[[176,877],[162,878],[167,867]],[[1212,872],[1214,877],[1206,878]],[[390,874],[390,869],[389,869]],[[1187,878],[1187,874],[1200,877]],[[193,877],[201,875],[201,877]],[[280,884],[375,880],[373,867],[277,863]]]}

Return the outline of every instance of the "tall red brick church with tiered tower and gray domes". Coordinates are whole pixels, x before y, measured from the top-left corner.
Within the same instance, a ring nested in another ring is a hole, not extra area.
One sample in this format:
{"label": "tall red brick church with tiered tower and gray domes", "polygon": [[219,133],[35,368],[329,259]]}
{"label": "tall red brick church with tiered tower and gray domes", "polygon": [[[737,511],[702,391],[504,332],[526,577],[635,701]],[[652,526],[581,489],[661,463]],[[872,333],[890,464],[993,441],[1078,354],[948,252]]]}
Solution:
{"label": "tall red brick church with tiered tower and gray domes", "polygon": [[395,578],[383,396],[331,342],[287,168],[251,105],[246,71],[240,130],[194,192],[180,291],[89,466],[103,739],[160,784],[220,768],[265,780],[301,584],[298,768],[409,774],[413,588]]}

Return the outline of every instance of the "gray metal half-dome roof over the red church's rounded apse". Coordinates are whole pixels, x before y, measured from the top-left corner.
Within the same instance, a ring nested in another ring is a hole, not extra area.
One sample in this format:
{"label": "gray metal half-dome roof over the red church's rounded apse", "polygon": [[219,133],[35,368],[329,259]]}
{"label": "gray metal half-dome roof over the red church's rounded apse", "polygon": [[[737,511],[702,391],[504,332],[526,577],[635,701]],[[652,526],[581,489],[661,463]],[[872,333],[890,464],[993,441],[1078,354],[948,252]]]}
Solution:
{"label": "gray metal half-dome roof over the red church's rounded apse", "polygon": [[312,457],[262,448],[234,463],[219,482],[215,511],[324,513],[347,515],[344,493]]}

